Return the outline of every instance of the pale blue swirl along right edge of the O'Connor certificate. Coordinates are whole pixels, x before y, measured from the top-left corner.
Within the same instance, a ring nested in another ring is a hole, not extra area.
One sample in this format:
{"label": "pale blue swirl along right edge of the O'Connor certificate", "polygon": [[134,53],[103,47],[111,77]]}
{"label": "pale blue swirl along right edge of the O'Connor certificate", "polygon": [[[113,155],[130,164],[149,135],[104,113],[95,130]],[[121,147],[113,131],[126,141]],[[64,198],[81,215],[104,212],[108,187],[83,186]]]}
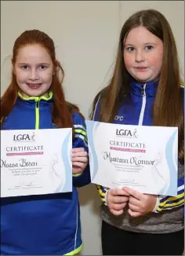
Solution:
{"label": "pale blue swirl along right edge of the O'Connor certificate", "polygon": [[[176,179],[176,172],[177,172],[177,153],[175,157],[175,163],[173,160],[173,155],[172,155],[172,149],[173,149],[173,144],[176,138],[176,133],[177,130],[172,133],[172,136],[169,137],[169,141],[166,144],[165,148],[165,158],[169,166],[169,184],[166,184],[164,188],[161,189],[161,191],[158,193],[159,195],[176,195],[177,191],[177,179]],[[165,191],[166,190],[166,191]]]}

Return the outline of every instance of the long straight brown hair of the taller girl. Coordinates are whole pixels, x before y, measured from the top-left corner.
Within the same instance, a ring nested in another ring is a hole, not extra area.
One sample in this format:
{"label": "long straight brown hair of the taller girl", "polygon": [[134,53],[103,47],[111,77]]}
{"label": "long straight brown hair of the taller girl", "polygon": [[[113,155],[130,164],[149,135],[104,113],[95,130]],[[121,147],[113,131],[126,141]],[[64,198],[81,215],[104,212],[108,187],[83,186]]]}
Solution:
{"label": "long straight brown hair of the taller girl", "polygon": [[[175,38],[168,20],[154,9],[141,10],[125,21],[118,43],[118,53],[114,73],[109,85],[101,90],[99,120],[112,123],[114,115],[123,101],[123,94],[129,95],[130,75],[125,68],[123,46],[126,36],[133,27],[143,26],[163,42],[163,59],[161,64],[158,90],[154,99],[153,125],[177,126],[179,128],[179,158],[184,160],[183,148],[183,106],[180,91],[180,66]],[[93,102],[93,112],[97,98]]]}

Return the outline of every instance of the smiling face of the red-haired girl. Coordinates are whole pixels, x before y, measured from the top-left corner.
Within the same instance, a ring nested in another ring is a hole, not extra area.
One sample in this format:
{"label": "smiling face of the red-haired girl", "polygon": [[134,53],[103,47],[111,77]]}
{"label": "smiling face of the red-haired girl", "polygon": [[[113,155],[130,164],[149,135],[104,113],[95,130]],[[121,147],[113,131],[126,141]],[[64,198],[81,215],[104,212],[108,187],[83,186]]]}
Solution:
{"label": "smiling face of the red-haired girl", "polygon": [[48,51],[37,44],[20,48],[13,71],[24,97],[47,94],[53,81],[53,61]]}

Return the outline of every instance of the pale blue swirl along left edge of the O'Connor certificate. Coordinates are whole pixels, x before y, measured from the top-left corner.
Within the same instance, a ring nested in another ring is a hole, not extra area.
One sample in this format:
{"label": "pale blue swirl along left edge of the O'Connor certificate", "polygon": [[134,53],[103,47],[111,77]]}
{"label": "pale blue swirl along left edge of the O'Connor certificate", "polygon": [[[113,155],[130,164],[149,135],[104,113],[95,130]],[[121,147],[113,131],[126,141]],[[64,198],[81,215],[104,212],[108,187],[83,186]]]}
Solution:
{"label": "pale blue swirl along left edge of the O'Connor certificate", "polygon": [[89,154],[89,160],[91,163],[93,163],[93,174],[91,179],[96,176],[97,170],[98,170],[98,159],[96,155],[96,150],[94,146],[94,141],[93,141],[93,135],[96,132],[98,126],[100,126],[100,122],[89,122],[88,120],[85,121],[86,126],[87,126],[87,133],[88,133],[88,144],[89,144],[89,150],[92,152],[92,154]]}

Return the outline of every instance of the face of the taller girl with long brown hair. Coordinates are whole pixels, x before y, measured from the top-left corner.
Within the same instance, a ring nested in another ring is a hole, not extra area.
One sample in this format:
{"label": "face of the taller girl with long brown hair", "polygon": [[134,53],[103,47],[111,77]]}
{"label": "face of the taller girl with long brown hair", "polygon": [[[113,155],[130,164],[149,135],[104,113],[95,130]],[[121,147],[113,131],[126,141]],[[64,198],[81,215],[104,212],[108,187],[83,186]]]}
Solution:
{"label": "face of the taller girl with long brown hair", "polygon": [[154,81],[161,71],[163,42],[146,27],[134,27],[125,38],[125,68],[139,82]]}

